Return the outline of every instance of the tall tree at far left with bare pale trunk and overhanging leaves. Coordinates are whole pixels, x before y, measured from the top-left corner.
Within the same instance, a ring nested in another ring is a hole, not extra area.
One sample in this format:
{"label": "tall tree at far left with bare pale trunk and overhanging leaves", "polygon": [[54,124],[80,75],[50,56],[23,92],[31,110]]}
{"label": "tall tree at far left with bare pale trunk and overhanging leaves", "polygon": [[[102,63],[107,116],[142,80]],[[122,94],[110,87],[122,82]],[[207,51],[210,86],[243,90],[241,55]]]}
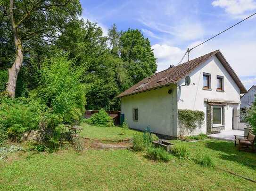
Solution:
{"label": "tall tree at far left with bare pale trunk and overhanging leaves", "polygon": [[10,97],[15,98],[24,53],[40,43],[51,44],[66,23],[76,19],[81,12],[79,0],[1,0],[0,19],[8,33],[13,35],[15,47],[14,61],[8,69],[7,91]]}

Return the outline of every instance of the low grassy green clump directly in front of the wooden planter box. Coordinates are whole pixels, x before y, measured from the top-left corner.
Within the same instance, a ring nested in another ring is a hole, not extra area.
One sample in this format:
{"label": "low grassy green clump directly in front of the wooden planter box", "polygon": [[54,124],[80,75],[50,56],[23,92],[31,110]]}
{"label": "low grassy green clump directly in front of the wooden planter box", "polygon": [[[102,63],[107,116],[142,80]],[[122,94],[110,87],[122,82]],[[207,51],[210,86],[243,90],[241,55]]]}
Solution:
{"label": "low grassy green clump directly in front of the wooden planter box", "polygon": [[163,160],[168,162],[172,159],[172,155],[165,151],[163,147],[154,147],[153,145],[149,146],[147,149],[147,156],[151,160]]}

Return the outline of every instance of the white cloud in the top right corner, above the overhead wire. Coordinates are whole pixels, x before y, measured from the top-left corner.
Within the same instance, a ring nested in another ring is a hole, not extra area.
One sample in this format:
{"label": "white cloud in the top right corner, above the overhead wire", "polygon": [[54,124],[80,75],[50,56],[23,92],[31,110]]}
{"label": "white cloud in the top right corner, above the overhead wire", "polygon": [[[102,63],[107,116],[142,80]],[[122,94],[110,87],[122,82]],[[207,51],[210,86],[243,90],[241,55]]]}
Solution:
{"label": "white cloud in the top right corner, above the overhead wire", "polygon": [[224,8],[225,12],[231,15],[243,15],[256,9],[255,0],[214,0],[212,5]]}

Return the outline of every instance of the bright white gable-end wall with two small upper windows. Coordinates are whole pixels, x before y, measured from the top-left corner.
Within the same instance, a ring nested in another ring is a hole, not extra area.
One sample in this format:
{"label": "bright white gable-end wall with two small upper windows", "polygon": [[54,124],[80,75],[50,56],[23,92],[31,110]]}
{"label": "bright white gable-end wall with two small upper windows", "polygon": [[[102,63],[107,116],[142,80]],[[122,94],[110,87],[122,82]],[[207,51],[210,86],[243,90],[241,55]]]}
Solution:
{"label": "bright white gable-end wall with two small upper windows", "polygon": [[[203,90],[203,72],[211,74],[211,91]],[[217,75],[223,76],[224,92],[217,92]],[[197,128],[192,134],[198,134],[200,132],[206,133],[206,102],[204,99],[222,99],[230,101],[239,101],[239,87],[234,82],[232,77],[223,67],[222,63],[213,56],[211,59],[203,63],[198,69],[195,69],[190,73],[191,84],[190,86],[179,85],[184,84],[184,79],[178,83],[177,87],[177,100],[178,109],[191,109],[199,110],[205,113],[205,122],[203,126],[199,129]],[[193,83],[195,85],[193,85]],[[232,129],[232,108],[235,111],[235,129],[238,127],[238,111],[239,104],[228,103],[225,109],[225,130]],[[179,130],[178,130],[179,131]]]}

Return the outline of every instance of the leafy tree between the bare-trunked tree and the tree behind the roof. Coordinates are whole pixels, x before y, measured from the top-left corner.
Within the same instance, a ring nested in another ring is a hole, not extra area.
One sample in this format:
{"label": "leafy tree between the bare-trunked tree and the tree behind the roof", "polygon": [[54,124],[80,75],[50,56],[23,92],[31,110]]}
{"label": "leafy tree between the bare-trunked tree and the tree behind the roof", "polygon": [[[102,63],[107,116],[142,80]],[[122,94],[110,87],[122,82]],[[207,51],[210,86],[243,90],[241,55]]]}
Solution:
{"label": "leafy tree between the bare-trunked tree and the tree behind the roof", "polygon": [[107,37],[97,23],[83,20],[69,23],[56,42],[69,53],[76,67],[83,70],[81,82],[86,84],[86,109],[117,109],[114,97],[119,93],[116,83],[116,60],[107,48]]}

